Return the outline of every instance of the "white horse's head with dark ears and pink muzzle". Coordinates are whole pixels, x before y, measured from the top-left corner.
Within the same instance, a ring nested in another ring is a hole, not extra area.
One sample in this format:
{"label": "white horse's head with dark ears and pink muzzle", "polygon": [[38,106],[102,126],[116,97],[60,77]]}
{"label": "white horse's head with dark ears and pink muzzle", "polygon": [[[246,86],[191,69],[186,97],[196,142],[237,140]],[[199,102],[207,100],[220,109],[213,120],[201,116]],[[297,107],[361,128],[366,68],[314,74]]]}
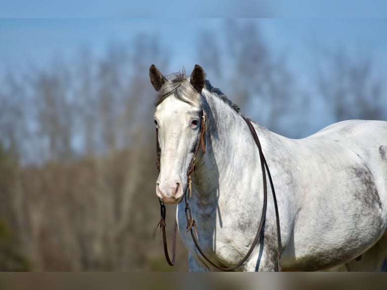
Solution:
{"label": "white horse's head with dark ears and pink muzzle", "polygon": [[157,91],[154,115],[157,130],[159,177],[156,194],[166,204],[179,203],[189,184],[199,145],[204,147],[205,113],[202,89],[205,73],[196,65],[190,78],[184,72],[168,80],[155,65],[149,69]]}

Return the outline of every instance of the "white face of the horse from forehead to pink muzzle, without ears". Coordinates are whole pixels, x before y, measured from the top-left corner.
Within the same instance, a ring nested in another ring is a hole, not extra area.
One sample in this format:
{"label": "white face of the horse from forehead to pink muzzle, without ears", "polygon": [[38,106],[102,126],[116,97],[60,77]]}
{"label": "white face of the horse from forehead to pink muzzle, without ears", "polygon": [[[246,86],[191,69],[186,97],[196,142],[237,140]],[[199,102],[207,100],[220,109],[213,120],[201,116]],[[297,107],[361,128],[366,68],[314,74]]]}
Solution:
{"label": "white face of the horse from forehead to pink muzzle, without ears", "polygon": [[181,201],[187,171],[200,134],[201,108],[169,96],[156,108],[155,123],[161,150],[156,194],[166,204]]}

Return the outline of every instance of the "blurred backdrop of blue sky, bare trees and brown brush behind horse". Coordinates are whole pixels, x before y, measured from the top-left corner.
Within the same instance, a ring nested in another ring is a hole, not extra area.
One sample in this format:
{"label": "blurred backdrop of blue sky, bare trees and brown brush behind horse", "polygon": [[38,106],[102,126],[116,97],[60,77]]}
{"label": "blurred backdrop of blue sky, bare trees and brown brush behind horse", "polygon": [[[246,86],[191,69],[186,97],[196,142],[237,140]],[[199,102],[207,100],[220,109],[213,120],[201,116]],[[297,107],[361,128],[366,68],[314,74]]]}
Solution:
{"label": "blurred backdrop of blue sky, bare trees and brown brush behind horse", "polygon": [[169,267],[153,238],[149,66],[200,64],[244,114],[302,138],[387,120],[386,32],[383,19],[0,20],[0,270],[186,271],[181,241]]}

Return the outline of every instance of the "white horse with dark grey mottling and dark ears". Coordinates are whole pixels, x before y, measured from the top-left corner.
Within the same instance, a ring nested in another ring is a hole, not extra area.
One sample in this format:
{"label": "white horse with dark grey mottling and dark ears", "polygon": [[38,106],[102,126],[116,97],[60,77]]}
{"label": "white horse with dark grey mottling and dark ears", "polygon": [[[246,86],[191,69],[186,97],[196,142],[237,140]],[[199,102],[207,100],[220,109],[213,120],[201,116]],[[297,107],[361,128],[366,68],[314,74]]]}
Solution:
{"label": "white horse with dark grey mottling and dark ears", "polygon": [[[249,120],[250,128],[199,65],[190,76],[183,70],[169,79],[152,65],[149,75],[156,90],[156,195],[177,204],[189,271],[227,269],[249,249],[235,271],[385,267],[386,121],[347,120],[291,139]],[[264,178],[263,161],[271,173]],[[273,186],[266,188],[268,177]]]}

